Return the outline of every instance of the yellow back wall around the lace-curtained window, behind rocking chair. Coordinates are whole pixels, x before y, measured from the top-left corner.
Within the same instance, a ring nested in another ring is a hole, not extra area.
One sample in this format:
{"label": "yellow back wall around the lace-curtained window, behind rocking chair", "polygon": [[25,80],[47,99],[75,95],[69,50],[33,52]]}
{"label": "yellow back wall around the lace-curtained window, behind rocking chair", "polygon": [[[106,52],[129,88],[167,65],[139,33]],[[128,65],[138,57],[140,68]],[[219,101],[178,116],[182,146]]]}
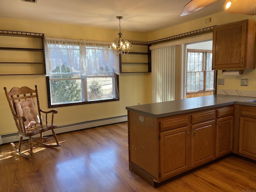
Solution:
{"label": "yellow back wall around the lace-curtained window, behind rocking chair", "polygon": [[[117,37],[118,30],[107,30],[90,28],[67,24],[56,24],[46,22],[35,22],[28,20],[14,20],[0,18],[0,30],[14,30],[25,32],[44,33],[45,36],[56,36],[62,38],[91,39],[112,41]],[[143,33],[123,32],[125,38],[135,41],[147,41],[147,35]],[[18,44],[19,42],[17,42]],[[1,52],[0,52],[1,54]],[[119,76],[120,101],[86,104],[78,106],[59,107],[55,122],[58,126],[68,125],[89,120],[98,120],[126,115],[126,106],[145,104],[151,102],[150,73],[121,74]],[[5,98],[3,87],[38,86],[41,107],[48,109],[46,78],[44,75],[24,76],[0,76],[0,135],[16,132],[10,108]]]}

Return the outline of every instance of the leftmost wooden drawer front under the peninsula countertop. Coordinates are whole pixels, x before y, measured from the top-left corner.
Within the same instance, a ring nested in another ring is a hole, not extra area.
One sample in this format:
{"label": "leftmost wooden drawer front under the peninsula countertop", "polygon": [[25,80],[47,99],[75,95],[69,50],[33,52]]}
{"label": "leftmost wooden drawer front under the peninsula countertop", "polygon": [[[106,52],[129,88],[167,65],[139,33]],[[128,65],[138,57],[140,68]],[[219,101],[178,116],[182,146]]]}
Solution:
{"label": "leftmost wooden drawer front under the peninsula countertop", "polygon": [[188,116],[170,118],[167,120],[160,121],[160,131],[179,128],[182,126],[188,126],[188,123],[189,123]]}

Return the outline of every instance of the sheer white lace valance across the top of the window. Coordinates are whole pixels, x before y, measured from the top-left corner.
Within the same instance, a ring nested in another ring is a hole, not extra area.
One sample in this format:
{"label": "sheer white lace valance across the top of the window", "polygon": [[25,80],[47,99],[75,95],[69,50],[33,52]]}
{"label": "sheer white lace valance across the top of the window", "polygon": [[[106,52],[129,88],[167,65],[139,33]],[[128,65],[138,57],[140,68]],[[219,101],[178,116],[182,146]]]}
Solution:
{"label": "sheer white lace valance across the top of the window", "polygon": [[113,67],[114,72],[119,75],[119,57],[108,49],[110,43],[46,36],[44,43],[46,74],[50,76],[56,66],[68,64],[80,74],[86,74],[88,66],[94,65],[95,68]]}

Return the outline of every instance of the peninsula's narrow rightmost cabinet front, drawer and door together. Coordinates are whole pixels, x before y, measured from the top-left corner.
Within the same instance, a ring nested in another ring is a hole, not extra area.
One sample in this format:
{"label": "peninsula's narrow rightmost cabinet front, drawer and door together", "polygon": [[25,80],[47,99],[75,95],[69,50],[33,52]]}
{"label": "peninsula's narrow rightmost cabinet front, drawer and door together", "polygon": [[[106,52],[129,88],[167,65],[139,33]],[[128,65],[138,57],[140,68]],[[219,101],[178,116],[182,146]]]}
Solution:
{"label": "peninsula's narrow rightmost cabinet front, drawer and door together", "polygon": [[232,152],[234,107],[217,109],[216,157]]}

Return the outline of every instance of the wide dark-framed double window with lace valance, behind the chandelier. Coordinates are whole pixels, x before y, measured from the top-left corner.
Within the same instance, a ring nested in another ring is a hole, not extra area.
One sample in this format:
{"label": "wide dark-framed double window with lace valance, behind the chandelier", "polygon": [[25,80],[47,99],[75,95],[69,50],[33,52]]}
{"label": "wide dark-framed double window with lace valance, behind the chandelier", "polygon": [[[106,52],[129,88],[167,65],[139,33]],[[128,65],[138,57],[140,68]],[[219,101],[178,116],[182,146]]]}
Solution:
{"label": "wide dark-framed double window with lace valance, behind the chandelier", "polygon": [[119,100],[119,57],[108,44],[45,38],[49,107]]}

